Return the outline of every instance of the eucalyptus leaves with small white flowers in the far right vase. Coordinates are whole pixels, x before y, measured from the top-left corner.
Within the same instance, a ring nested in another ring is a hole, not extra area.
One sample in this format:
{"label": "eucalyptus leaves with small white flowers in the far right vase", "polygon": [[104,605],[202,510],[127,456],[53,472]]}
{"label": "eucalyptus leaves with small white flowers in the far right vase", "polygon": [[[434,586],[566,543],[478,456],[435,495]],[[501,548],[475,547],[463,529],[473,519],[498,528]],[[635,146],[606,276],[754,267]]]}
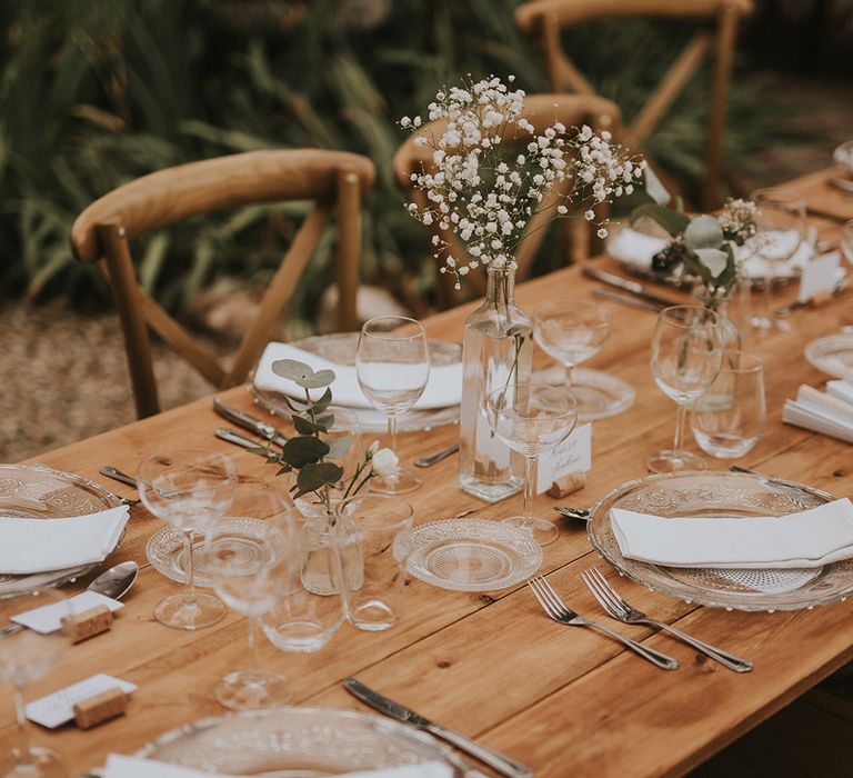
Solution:
{"label": "eucalyptus leaves with small white flowers in the far right vase", "polygon": [[747,200],[729,199],[719,216],[689,217],[660,203],[640,206],[632,221],[654,219],[672,240],[652,258],[652,270],[701,281],[711,298],[729,293],[741,273],[737,247],[753,238],[756,207]]}

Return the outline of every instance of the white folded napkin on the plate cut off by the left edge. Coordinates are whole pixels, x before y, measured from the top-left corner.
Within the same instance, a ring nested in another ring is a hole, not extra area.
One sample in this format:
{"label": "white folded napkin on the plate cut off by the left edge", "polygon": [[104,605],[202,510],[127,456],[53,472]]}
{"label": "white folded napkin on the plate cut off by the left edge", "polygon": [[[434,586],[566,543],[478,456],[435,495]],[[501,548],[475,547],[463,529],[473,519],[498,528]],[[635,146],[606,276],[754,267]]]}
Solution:
{"label": "white folded napkin on the plate cut off by the left edge", "polygon": [[103,561],[127,521],[127,506],[64,519],[0,517],[0,573],[47,572]]}

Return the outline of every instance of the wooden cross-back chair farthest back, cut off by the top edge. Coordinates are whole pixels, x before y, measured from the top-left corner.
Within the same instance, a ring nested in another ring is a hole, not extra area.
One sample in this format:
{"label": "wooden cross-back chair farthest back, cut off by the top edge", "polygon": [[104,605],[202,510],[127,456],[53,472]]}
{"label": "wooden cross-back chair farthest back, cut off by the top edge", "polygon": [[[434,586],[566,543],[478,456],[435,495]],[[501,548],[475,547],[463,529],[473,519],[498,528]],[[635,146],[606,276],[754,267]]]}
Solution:
{"label": "wooden cross-back chair farthest back, cut off by the top edge", "polygon": [[632,150],[642,149],[645,138],[682,92],[713,46],[713,88],[702,192],[704,207],[711,209],[719,206],[716,190],[722,164],[725,96],[737,21],[740,17],[751,13],[752,8],[752,0],[533,0],[519,7],[515,23],[523,32],[539,38],[554,91],[595,94],[593,87],[563,51],[560,43],[561,30],[600,19],[631,17],[700,22],[701,29],[649,96],[633,124],[625,128],[622,140]]}

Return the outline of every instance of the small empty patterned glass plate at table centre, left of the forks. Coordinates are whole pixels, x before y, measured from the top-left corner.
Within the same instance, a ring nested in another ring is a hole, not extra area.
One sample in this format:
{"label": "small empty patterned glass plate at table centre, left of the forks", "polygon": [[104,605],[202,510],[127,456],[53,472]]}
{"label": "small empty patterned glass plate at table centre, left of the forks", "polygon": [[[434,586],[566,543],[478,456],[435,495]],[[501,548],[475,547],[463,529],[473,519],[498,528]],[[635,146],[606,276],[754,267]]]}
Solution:
{"label": "small empty patterned glass plate at table centre, left of the forks", "polygon": [[542,565],[530,532],[490,519],[443,519],[415,527],[408,569],[415,578],[453,591],[505,589]]}

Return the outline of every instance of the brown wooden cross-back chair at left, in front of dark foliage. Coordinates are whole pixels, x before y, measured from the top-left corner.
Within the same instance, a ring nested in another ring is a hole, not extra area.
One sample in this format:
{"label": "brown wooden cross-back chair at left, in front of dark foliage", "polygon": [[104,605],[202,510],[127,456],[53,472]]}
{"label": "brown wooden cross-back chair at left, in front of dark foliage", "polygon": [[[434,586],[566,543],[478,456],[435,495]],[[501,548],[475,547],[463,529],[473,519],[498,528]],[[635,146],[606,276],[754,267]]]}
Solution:
{"label": "brown wooden cross-back chair at left, in front of dark foliage", "polygon": [[[370,160],[343,151],[252,151],[144,176],[100,198],[77,218],[71,247],[81,262],[97,263],[112,286],[140,418],[160,411],[148,327],[218,388],[240,383],[260,357],[335,208],[339,323],[357,328],[361,192],[374,177]],[[233,360],[224,366],[139,287],[129,243],[199,213],[278,200],[312,200],[314,208],[284,253]]]}

